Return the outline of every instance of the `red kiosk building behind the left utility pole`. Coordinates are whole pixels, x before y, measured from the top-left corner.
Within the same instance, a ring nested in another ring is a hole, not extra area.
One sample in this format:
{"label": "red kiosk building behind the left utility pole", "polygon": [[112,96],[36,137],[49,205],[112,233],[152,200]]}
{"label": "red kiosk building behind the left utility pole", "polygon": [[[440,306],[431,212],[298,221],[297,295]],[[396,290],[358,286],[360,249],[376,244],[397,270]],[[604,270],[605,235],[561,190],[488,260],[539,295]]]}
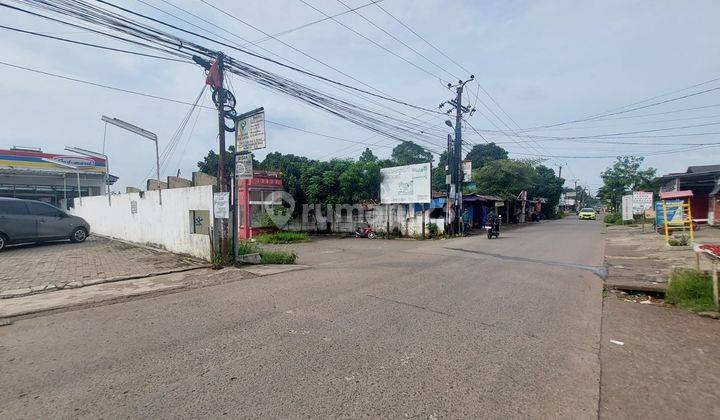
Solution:
{"label": "red kiosk building behind the left utility pole", "polygon": [[280,172],[253,171],[252,179],[238,180],[238,211],[235,226],[239,239],[250,239],[272,228],[263,226],[263,207],[279,204],[277,199],[273,201],[274,197],[271,194],[282,189]]}

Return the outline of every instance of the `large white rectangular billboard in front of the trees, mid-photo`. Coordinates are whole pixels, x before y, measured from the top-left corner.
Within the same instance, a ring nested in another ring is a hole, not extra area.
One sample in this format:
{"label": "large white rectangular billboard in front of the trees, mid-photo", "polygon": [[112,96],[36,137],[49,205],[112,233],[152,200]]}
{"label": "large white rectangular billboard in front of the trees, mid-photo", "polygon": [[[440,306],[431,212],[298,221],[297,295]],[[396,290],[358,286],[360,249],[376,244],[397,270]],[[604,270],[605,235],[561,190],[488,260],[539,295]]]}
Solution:
{"label": "large white rectangular billboard in front of the trees, mid-photo", "polygon": [[430,163],[393,166],[380,170],[380,202],[383,204],[429,203]]}

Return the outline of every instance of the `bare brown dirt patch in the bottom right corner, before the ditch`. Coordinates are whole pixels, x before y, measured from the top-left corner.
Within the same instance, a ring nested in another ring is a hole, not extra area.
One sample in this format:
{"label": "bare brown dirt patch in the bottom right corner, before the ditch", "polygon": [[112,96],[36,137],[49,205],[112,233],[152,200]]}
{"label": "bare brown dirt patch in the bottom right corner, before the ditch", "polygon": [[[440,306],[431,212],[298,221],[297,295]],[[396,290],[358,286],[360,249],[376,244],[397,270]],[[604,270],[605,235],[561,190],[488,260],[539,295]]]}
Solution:
{"label": "bare brown dirt patch in the bottom right corner, before the ditch", "polygon": [[601,418],[720,418],[720,321],[610,295],[600,363]]}

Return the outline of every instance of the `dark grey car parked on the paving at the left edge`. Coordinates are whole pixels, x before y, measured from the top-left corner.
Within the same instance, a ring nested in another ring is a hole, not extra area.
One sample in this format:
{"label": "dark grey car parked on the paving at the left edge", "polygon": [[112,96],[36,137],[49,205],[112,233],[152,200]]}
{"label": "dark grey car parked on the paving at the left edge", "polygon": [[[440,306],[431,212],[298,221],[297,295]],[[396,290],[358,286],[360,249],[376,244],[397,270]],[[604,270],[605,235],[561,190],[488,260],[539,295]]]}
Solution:
{"label": "dark grey car parked on the paving at the left edge", "polygon": [[26,242],[83,242],[88,235],[90,225],[81,217],[41,201],[0,197],[0,251]]}

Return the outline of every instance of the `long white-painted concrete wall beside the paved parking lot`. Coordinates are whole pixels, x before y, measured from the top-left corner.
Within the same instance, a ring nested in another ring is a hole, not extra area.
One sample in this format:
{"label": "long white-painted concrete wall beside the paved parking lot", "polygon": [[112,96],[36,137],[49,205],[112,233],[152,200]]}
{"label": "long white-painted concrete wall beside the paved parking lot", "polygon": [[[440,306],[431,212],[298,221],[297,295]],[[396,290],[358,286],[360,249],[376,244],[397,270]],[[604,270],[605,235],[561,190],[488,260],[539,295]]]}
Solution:
{"label": "long white-painted concrete wall beside the paved parking lot", "polygon": [[[106,196],[83,197],[82,206],[76,203],[72,214],[90,223],[91,233],[124,239],[168,251],[210,259],[210,237],[207,227],[213,227],[213,187],[190,187],[145,193],[112,196],[108,204]],[[209,220],[193,233],[191,211]]]}

